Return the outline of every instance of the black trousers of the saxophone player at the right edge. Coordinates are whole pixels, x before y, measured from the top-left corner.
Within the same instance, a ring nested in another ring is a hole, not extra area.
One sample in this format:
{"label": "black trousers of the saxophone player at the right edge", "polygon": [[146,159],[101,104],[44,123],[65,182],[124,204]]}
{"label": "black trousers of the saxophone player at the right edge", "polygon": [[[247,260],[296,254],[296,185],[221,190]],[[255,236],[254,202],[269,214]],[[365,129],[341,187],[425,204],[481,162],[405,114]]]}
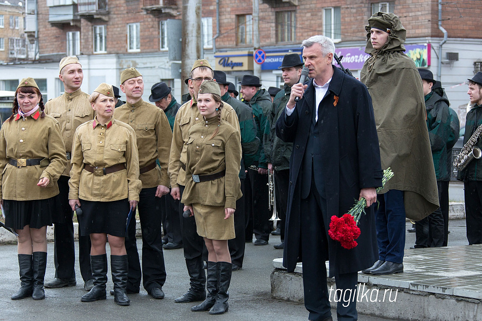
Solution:
{"label": "black trousers of the saxophone player at the right edge", "polygon": [[464,182],[465,222],[469,244],[482,244],[482,182]]}

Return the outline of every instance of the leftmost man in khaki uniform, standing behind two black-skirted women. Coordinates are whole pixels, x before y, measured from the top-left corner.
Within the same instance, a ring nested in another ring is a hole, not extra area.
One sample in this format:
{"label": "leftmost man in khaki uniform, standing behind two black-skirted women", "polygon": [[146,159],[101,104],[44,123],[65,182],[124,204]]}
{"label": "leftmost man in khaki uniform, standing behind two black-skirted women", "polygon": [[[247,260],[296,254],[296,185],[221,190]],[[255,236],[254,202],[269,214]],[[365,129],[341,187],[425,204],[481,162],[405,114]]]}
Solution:
{"label": "leftmost man in khaki uniform, standing behind two black-skirted women", "polygon": [[[55,223],[54,229],[54,262],[55,278],[44,284],[45,288],[73,287],[77,284],[75,278],[74,250],[74,212],[68,205],[68,179],[71,170],[72,140],[77,127],[94,119],[94,111],[90,106],[89,94],[80,89],[84,74],[77,57],[64,57],[59,64],[59,79],[63,82],[65,92],[57,98],[50,99],[45,104],[45,113],[54,117],[62,133],[67,165],[58,180],[59,200],[63,220]],[[80,273],[84,279],[84,290],[93,287],[92,271],[90,269],[90,237],[79,235]]]}

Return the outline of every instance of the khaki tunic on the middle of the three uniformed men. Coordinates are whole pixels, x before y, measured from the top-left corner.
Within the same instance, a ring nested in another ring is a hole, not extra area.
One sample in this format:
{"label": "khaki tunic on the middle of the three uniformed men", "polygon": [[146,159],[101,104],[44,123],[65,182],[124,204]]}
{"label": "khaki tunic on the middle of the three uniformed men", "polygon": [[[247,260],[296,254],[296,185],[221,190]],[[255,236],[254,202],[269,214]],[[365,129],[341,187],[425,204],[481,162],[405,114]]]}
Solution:
{"label": "khaki tunic on the middle of the three uniformed men", "polygon": [[139,148],[139,167],[142,169],[159,159],[158,166],[140,175],[143,188],[163,185],[169,187],[167,164],[173,133],[164,112],[157,106],[139,100],[125,103],[114,110],[114,117],[132,127]]}

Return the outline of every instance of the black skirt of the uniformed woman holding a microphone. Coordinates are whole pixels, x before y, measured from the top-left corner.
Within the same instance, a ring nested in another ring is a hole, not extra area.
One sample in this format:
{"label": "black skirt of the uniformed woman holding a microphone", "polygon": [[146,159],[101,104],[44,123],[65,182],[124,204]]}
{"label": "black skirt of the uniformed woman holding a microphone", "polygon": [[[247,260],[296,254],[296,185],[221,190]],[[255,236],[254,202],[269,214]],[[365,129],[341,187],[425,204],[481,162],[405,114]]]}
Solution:
{"label": "black skirt of the uniformed woman holding a microphone", "polygon": [[[105,233],[124,237],[129,201],[127,198],[111,202],[92,202],[81,199],[82,215],[77,216],[79,232],[82,236],[92,233]],[[132,213],[135,220],[135,212]]]}

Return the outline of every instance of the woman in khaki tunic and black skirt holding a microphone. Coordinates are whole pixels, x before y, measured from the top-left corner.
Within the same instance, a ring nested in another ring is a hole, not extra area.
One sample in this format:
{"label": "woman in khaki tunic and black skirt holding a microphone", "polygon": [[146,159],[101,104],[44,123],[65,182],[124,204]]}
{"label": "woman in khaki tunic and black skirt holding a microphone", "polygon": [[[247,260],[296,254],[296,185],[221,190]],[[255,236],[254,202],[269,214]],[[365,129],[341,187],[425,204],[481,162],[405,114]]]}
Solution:
{"label": "woman in khaki tunic and black skirt holding a microphone", "polygon": [[106,299],[109,235],[114,301],[129,305],[124,236],[129,209],[135,215],[142,188],[135,133],[129,125],[112,117],[115,103],[111,85],[100,84],[90,95],[90,103],[96,116],[75,132],[68,181],[68,202],[73,210],[82,206],[83,213],[78,216],[80,233],[90,235],[92,243],[94,287],[81,301]]}

